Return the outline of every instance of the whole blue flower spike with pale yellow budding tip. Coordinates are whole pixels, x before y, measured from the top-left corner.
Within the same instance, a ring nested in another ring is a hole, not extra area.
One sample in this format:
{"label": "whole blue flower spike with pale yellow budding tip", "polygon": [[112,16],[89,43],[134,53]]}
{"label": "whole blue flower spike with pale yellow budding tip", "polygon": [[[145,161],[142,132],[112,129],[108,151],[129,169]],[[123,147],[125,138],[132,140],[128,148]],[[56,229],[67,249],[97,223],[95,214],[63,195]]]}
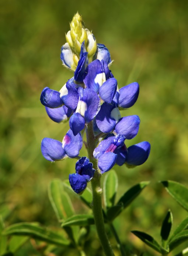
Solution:
{"label": "whole blue flower spike with pale yellow budding tip", "polygon": [[[59,92],[45,87],[41,103],[53,121],[69,120],[70,129],[62,142],[44,138],[41,143],[43,156],[51,162],[78,157],[84,131],[92,122],[95,138],[100,140],[93,157],[98,159],[101,174],[114,164],[128,167],[143,164],[149,156],[150,143],[125,146],[125,139],[130,140],[138,133],[140,119],[137,115],[121,117],[119,112],[135,104],[139,84],[134,82],[118,89],[117,80],[109,70],[112,62],[109,50],[104,44],[97,44],[94,35],[84,29],[78,13],[70,23],[66,41],[60,58],[63,66],[74,71],[74,77]],[[81,157],[76,163],[76,173],[69,174],[74,192],[82,193],[94,173],[90,160]]]}

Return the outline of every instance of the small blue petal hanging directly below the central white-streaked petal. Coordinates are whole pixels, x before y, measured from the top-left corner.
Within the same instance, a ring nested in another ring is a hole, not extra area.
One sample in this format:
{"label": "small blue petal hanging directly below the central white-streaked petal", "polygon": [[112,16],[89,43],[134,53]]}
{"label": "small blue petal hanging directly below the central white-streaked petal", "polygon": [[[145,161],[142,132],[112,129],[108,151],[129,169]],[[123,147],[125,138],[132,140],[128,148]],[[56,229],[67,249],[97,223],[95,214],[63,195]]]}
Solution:
{"label": "small blue petal hanging directly below the central white-streaked petal", "polygon": [[76,136],[85,127],[85,120],[80,113],[74,113],[69,120],[70,129],[73,131],[74,136]]}

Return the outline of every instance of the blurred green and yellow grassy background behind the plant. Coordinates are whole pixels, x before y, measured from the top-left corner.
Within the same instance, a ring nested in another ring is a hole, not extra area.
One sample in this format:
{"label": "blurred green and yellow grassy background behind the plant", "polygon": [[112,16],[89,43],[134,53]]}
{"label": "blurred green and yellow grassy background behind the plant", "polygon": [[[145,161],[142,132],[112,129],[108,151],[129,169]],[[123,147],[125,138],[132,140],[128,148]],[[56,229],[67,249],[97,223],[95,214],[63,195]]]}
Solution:
{"label": "blurred green and yellow grassy background behind the plant", "polygon": [[[159,240],[169,208],[174,226],[187,216],[158,183],[175,180],[188,186],[187,0],[1,0],[0,206],[5,214],[6,206],[11,209],[6,225],[38,221],[58,226],[48,185],[55,177],[67,179],[76,160],[50,163],[42,157],[42,138],[62,140],[68,124],[50,120],[39,98],[43,87],[60,90],[73,76],[62,66],[60,48],[77,11],[97,43],[108,47],[119,88],[140,84],[136,104],[122,112],[141,120],[138,135],[126,145],[148,140],[151,153],[143,166],[115,167],[118,197],[138,182],[151,183],[115,225],[123,242],[155,255],[129,231],[142,230]],[[87,212],[76,197],[73,202],[77,213]],[[27,243],[17,255],[40,254]]]}

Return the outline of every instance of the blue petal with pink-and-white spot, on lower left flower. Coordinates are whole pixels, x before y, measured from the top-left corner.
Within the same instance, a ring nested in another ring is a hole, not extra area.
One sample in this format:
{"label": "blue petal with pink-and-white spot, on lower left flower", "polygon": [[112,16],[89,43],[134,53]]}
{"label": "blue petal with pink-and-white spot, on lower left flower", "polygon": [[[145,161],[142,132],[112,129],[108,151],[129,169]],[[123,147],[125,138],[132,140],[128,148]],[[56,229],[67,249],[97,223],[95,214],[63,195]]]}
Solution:
{"label": "blue petal with pink-and-white spot, on lower left flower", "polygon": [[72,130],[68,130],[62,144],[67,156],[74,158],[79,155],[79,150],[82,147],[82,137],[80,133],[74,136]]}

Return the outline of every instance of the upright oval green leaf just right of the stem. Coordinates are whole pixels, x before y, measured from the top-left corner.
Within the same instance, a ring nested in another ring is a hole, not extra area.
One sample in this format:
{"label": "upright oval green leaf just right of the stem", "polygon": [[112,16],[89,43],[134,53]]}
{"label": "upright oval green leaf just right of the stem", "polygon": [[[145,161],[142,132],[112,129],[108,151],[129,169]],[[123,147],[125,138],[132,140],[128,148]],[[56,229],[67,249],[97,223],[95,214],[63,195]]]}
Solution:
{"label": "upright oval green leaf just right of the stem", "polygon": [[104,179],[104,204],[107,209],[114,206],[117,188],[118,177],[115,171],[111,170]]}

